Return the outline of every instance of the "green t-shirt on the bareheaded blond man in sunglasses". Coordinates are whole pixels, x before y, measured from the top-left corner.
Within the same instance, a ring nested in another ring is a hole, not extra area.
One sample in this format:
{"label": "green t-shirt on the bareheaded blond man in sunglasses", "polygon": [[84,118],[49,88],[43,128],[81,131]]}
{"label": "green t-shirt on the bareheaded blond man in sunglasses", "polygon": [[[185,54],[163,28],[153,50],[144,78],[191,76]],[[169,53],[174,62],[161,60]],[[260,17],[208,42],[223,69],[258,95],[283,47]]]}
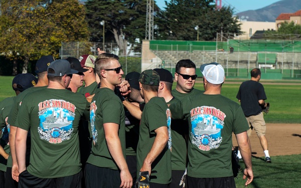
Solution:
{"label": "green t-shirt on the bareheaded blond man in sunglasses", "polygon": [[118,136],[125,158],[124,109],[121,100],[115,95],[113,90],[109,88],[96,90],[90,105],[90,122],[93,142],[87,163],[117,170],[117,164],[107,147],[103,128],[104,123],[119,124]]}

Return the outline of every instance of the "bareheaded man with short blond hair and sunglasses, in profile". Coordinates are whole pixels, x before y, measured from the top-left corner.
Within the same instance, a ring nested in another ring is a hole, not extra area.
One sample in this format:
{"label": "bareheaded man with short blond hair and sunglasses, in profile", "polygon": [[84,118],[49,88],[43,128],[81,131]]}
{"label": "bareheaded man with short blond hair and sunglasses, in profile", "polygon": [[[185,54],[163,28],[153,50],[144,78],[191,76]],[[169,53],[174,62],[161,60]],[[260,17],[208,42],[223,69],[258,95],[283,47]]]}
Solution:
{"label": "bareheaded man with short blond hair and sunglasses, in profile", "polygon": [[132,177],[125,161],[125,114],[114,93],[123,71],[118,56],[102,53],[95,61],[100,78],[90,106],[93,143],[86,164],[86,187],[131,187]]}

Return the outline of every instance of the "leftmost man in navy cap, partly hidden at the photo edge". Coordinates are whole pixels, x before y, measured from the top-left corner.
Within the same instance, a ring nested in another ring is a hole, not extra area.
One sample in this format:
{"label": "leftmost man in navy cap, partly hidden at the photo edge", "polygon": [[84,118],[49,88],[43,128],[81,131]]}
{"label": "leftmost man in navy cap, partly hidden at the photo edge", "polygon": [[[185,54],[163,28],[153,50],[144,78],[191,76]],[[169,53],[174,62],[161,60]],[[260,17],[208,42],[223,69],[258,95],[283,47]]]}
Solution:
{"label": "leftmost man in navy cap, partly hidden at the photo edge", "polygon": [[[37,81],[38,79],[30,73],[18,74],[13,79],[13,90],[15,90],[16,95],[18,96],[26,89],[35,86]],[[9,113],[14,105],[15,98],[16,97],[9,97],[0,102],[0,132],[2,130],[2,138],[0,142],[0,150],[2,150],[0,152],[2,153],[2,156],[0,155],[0,187],[18,186],[18,182],[12,178],[12,157],[9,157],[9,153],[11,153],[9,142],[10,124],[7,122],[9,119]],[[5,172],[6,175],[4,175]],[[5,184],[2,184],[1,182],[5,182]]]}

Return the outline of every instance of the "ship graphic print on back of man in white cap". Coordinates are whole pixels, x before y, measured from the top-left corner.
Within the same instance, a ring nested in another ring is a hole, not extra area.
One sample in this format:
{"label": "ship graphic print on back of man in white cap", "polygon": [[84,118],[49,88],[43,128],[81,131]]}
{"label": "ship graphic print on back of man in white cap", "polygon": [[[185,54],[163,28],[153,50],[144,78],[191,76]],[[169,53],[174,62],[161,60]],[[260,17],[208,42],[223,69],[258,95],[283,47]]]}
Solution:
{"label": "ship graphic print on back of man in white cap", "polygon": [[192,144],[203,151],[218,148],[222,142],[225,113],[215,107],[202,106],[190,111]]}

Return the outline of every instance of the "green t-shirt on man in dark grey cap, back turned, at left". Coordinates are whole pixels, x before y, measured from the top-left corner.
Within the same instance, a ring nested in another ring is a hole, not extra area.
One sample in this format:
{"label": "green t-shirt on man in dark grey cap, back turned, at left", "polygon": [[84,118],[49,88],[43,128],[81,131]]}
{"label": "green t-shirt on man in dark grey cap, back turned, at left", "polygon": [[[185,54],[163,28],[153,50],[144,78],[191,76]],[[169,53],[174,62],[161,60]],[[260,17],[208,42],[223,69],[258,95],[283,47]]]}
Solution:
{"label": "green t-shirt on man in dark grey cap, back turned, at left", "polygon": [[66,89],[45,88],[26,95],[16,125],[31,131],[31,174],[55,178],[81,170],[78,123],[88,110],[84,96]]}

